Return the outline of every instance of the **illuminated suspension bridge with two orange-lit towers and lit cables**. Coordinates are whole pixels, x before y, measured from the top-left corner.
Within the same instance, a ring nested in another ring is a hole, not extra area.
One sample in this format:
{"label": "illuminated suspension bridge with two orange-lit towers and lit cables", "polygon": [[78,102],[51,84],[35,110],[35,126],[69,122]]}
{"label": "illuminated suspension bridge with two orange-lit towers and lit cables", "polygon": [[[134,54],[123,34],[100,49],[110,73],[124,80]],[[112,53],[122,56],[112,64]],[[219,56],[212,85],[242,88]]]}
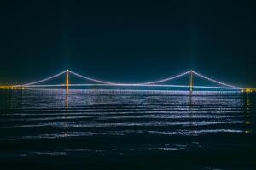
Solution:
{"label": "illuminated suspension bridge with two orange-lit towers and lit cables", "polygon": [[[64,76],[66,77],[66,81],[61,84],[47,84],[45,82],[49,82],[57,77]],[[79,77],[81,79],[86,80],[90,83],[71,83],[69,77]],[[189,83],[187,85],[178,85],[178,84],[166,84],[166,82],[172,82],[178,78],[181,77],[188,77],[189,76]],[[194,77],[199,77],[207,82],[211,82],[215,84],[214,86],[199,86],[195,85]],[[177,74],[172,77],[166,77],[160,80],[156,80],[153,82],[141,82],[141,83],[119,83],[119,82],[107,82],[95,78],[85,77],[79,73],[76,73],[74,71],[61,71],[60,73],[55,74],[54,76],[44,78],[42,80],[38,80],[36,82],[29,82],[25,84],[20,85],[5,85],[0,86],[0,89],[13,89],[13,90],[23,90],[26,88],[66,88],[67,90],[71,87],[154,87],[154,88],[185,88],[189,90],[191,93],[194,90],[201,90],[201,89],[207,89],[207,90],[234,90],[234,91],[241,91],[241,92],[256,92],[256,88],[242,88],[237,87],[235,85],[231,85],[225,82],[219,82],[216,79],[212,79],[210,77],[204,76],[201,73],[198,73],[196,71],[185,71],[183,73]]]}

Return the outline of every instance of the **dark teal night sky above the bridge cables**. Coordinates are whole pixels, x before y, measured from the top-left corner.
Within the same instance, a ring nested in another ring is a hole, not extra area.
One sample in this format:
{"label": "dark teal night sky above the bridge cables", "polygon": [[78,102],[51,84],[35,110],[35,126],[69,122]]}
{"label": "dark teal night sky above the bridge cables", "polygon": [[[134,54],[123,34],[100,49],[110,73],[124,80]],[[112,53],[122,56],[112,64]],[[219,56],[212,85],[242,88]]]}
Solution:
{"label": "dark teal night sky above the bridge cables", "polygon": [[67,68],[144,82],[193,69],[256,87],[253,1],[88,2],[1,2],[0,82]]}

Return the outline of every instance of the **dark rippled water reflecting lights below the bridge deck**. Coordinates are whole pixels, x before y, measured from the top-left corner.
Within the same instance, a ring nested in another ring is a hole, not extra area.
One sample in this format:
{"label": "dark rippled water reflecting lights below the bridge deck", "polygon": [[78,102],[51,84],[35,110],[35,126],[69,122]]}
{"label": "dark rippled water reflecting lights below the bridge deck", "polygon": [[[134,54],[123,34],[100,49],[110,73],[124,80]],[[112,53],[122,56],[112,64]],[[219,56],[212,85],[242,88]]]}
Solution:
{"label": "dark rippled water reflecting lights below the bridge deck", "polygon": [[255,169],[256,95],[0,91],[0,168]]}

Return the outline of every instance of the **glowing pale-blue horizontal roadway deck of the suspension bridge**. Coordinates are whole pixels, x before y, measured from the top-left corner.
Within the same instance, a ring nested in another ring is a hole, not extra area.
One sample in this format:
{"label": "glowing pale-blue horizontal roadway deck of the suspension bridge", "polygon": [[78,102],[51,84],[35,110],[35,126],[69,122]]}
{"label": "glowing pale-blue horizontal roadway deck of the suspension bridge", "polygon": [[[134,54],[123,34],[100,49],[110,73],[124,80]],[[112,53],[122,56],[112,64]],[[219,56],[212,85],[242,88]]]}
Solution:
{"label": "glowing pale-blue horizontal roadway deck of the suspension bridge", "polygon": [[[53,85],[27,85],[26,88],[40,88],[40,87],[65,87],[66,84],[53,84]],[[70,87],[82,86],[100,86],[100,87],[163,87],[163,88],[189,88],[190,86],[184,85],[161,85],[161,84],[69,84]],[[236,89],[242,88],[227,88],[227,87],[213,87],[213,86],[194,86],[193,88],[212,88],[212,89]]]}

